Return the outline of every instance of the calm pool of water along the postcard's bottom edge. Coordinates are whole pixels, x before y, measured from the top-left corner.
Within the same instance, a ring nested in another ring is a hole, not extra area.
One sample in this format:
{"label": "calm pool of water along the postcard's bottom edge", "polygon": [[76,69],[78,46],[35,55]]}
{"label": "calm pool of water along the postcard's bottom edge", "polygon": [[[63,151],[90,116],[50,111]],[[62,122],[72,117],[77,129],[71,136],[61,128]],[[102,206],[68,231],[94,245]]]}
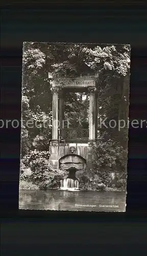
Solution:
{"label": "calm pool of water along the postcard's bottom edge", "polygon": [[126,192],[20,190],[19,209],[125,211]]}

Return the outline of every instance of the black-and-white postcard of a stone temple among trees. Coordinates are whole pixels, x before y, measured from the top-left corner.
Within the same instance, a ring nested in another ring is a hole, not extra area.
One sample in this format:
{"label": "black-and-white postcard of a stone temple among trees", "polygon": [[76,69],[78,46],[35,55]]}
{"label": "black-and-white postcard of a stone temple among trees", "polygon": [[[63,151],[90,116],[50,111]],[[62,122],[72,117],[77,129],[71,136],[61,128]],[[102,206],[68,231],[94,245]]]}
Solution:
{"label": "black-and-white postcard of a stone temple among trees", "polygon": [[126,211],[130,52],[23,43],[19,209]]}

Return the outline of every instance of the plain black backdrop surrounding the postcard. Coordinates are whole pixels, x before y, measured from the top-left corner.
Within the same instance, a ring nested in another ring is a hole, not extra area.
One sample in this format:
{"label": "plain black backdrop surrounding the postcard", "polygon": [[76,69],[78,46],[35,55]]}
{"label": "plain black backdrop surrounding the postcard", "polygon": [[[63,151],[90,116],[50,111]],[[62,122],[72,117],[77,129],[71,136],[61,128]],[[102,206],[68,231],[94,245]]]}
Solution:
{"label": "plain black backdrop surrounding the postcard", "polygon": [[[131,44],[129,117],[147,120],[146,6],[138,2],[118,6],[115,1],[54,2],[54,6],[32,2],[2,1],[1,119],[21,117],[22,42],[58,41]],[[35,212],[18,211],[20,127],[1,129],[2,255],[53,255],[62,249],[79,255],[106,249],[113,255],[143,252],[146,134],[145,123],[143,129],[129,130],[126,213]]]}

